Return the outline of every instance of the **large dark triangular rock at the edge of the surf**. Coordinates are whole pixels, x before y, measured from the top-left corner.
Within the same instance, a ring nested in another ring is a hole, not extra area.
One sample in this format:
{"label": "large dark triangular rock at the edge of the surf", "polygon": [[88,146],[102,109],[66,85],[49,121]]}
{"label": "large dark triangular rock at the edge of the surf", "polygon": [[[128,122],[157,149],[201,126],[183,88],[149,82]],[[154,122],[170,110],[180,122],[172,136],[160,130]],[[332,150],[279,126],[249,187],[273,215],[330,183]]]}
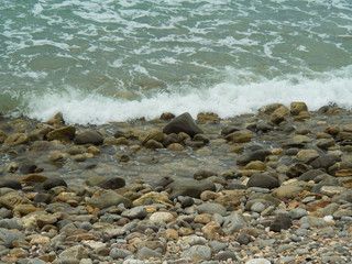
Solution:
{"label": "large dark triangular rock at the edge of the surf", "polygon": [[202,134],[202,130],[195,123],[194,119],[188,112],[185,112],[174,120],[172,120],[164,129],[163,133],[170,134],[185,132],[191,138],[196,134]]}

